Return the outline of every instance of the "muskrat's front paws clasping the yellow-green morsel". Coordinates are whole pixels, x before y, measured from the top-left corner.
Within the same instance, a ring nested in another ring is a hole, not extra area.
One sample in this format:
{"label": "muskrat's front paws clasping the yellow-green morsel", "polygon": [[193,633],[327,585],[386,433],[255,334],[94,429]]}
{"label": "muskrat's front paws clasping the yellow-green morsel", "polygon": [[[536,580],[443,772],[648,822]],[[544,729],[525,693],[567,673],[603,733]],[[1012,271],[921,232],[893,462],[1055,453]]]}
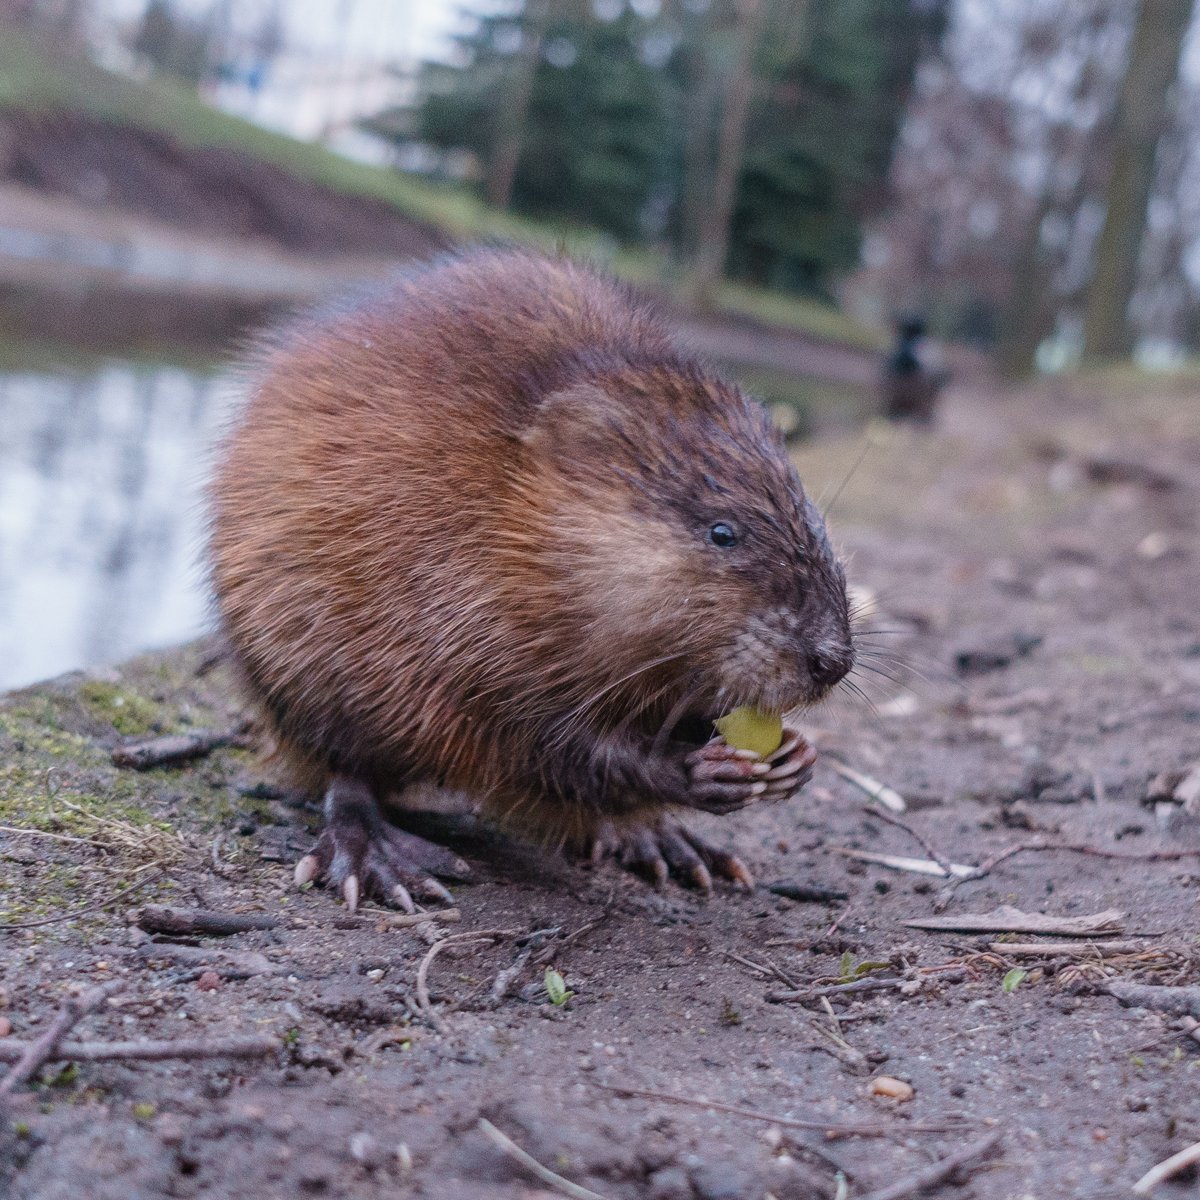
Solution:
{"label": "muskrat's front paws clasping the yellow-green morsel", "polygon": [[684,803],[706,812],[733,812],[755,800],[786,799],[812,778],[816,757],[794,730],[785,728],[779,749],[766,758],[718,736],[686,757]]}

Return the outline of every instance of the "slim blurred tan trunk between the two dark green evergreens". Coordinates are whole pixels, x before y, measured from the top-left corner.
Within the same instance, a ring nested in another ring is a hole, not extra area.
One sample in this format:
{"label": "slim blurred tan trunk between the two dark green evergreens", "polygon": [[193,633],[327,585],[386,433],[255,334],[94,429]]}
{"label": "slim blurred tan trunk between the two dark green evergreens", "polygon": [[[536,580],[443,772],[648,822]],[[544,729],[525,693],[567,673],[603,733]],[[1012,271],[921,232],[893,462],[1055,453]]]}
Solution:
{"label": "slim blurred tan trunk between the two dark green evergreens", "polygon": [[706,218],[701,222],[700,244],[696,247],[689,287],[690,300],[701,311],[713,307],[716,287],[725,271],[725,259],[730,251],[730,226],[733,221],[733,202],[737,198],[742,158],[745,154],[755,54],[762,40],[767,4],[766,0],[739,0],[737,11],[737,56],[725,91],[725,112],[721,115],[716,143],[712,203]]}

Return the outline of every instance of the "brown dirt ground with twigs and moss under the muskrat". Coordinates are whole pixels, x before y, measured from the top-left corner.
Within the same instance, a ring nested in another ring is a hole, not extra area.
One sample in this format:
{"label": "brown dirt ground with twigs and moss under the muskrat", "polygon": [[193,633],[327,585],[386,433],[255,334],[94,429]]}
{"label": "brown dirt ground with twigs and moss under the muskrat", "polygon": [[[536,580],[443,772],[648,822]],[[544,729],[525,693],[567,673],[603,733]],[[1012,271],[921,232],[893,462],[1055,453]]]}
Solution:
{"label": "brown dirt ground with twigs and moss under the muskrat", "polygon": [[[863,444],[802,448],[810,488],[836,490]],[[316,815],[277,797],[250,750],[186,769],[112,764],[130,737],[235,724],[204,647],[8,697],[0,1020],[12,1037],[37,1037],[73,990],[118,979],[72,1037],[257,1034],[280,1049],[46,1068],[0,1132],[0,1192],[563,1194],[502,1153],[482,1118],[613,1200],[860,1200],[991,1132],[990,1158],[922,1194],[1129,1195],[1200,1139],[1200,1046],[1176,1018],[1106,990],[1200,982],[1200,822],[1170,799],[1172,779],[1154,784],[1200,760],[1198,500],[1195,380],[972,388],[949,396],[936,432],[876,436],[830,516],[874,601],[878,632],[863,644],[887,655],[858,676],[875,707],[847,695],[810,714],[822,762],[796,800],[696,822],[751,864],[752,894],[656,892],[457,822],[476,876],[455,887],[458,924],[347,919],[330,894],[292,889]],[[902,793],[901,820],[953,863],[1024,842],[1118,857],[1030,851],[946,896],[936,878],[840,852],[929,854],[835,757]],[[826,890],[788,898],[802,887]],[[151,938],[130,923],[151,901],[277,924]],[[1027,956],[1004,944],[1013,918],[983,935],[906,925],[998,905],[1118,910],[1104,937],[1135,944]],[[431,938],[488,930],[502,936],[448,944],[428,965],[431,1020],[416,988]],[[563,1004],[547,966],[574,992]],[[882,985],[827,1004],[774,998],[856,979]],[[882,1075],[912,1097],[872,1096]],[[851,1123],[882,1134],[820,1128]],[[1195,1189],[1180,1176],[1154,1194]]]}

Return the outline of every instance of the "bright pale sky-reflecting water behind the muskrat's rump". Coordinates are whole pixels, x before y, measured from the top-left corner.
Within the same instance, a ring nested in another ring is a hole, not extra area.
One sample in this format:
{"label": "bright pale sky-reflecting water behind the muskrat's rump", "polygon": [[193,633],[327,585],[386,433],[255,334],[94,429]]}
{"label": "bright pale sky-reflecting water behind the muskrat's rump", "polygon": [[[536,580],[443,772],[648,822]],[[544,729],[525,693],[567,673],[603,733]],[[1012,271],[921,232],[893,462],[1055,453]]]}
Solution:
{"label": "bright pale sky-reflecting water behind the muskrat's rump", "polygon": [[228,378],[0,371],[0,690],[203,632],[203,488]]}

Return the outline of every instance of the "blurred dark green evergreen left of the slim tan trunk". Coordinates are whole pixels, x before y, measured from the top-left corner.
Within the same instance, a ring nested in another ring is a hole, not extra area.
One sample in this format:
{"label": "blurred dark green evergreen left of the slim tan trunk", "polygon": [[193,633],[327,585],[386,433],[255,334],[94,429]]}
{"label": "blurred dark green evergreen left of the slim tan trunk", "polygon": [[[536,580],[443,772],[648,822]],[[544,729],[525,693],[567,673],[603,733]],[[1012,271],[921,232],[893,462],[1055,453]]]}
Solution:
{"label": "blurred dark green evergreen left of the slim tan trunk", "polygon": [[425,65],[409,132],[473,151],[497,205],[640,240],[676,154],[672,82],[646,52],[654,30],[623,6],[602,19],[569,0],[485,16],[460,62]]}

